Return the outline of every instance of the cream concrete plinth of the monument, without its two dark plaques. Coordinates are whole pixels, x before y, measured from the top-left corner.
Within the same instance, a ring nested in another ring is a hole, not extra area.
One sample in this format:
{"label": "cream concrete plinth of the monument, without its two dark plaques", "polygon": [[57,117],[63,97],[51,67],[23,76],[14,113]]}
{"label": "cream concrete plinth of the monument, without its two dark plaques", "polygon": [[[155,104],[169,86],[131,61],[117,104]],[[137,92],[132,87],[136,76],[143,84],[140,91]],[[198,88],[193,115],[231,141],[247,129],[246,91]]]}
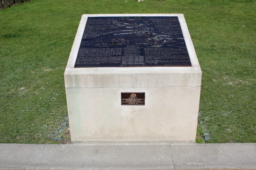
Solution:
{"label": "cream concrete plinth of the monument, without its two dark plaques", "polygon": [[[88,16],[178,16],[192,67],[74,68]],[[195,140],[201,70],[182,14],[83,15],[64,76],[72,142]],[[121,105],[122,92],[145,105]]]}

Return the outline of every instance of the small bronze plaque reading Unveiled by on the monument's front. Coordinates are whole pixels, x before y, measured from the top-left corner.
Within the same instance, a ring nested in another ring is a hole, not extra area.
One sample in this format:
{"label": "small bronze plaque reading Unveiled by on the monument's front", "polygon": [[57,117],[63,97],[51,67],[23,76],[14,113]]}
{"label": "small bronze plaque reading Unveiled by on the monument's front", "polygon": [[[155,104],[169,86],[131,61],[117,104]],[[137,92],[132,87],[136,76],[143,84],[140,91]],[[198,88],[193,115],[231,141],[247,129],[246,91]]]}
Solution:
{"label": "small bronze plaque reading Unveiled by on the monument's front", "polygon": [[145,92],[121,93],[121,105],[145,105]]}

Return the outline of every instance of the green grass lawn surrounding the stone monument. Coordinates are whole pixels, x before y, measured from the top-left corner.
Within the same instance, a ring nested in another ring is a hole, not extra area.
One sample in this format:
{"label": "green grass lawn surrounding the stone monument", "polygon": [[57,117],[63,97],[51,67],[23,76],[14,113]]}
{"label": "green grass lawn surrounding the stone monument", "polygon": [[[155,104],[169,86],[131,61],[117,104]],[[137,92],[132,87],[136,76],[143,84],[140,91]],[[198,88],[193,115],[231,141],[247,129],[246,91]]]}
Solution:
{"label": "green grass lawn surrounding the stone monument", "polygon": [[33,0],[1,10],[0,143],[51,143],[81,16],[108,13],[184,14],[202,69],[200,131],[213,143],[256,142],[255,9],[255,0]]}

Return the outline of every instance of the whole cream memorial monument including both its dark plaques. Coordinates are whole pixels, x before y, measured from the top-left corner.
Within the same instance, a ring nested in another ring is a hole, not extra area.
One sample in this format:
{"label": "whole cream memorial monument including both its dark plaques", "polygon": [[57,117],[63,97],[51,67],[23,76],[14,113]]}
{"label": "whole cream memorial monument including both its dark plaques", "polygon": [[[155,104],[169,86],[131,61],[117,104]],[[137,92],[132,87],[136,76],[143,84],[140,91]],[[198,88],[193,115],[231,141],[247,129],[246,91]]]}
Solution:
{"label": "whole cream memorial monument including both its dark plaques", "polygon": [[72,142],[195,141],[201,69],[183,14],[83,15],[64,77]]}

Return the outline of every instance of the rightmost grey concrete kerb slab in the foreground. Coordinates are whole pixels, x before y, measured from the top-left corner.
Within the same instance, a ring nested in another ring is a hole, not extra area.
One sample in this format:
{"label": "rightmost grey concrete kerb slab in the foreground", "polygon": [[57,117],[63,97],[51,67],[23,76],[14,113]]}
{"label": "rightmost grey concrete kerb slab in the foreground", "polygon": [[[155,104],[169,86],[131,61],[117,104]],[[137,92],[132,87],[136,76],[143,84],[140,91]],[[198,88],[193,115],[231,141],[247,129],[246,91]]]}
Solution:
{"label": "rightmost grey concrete kerb slab in the foreground", "polygon": [[256,143],[170,144],[175,168],[256,168]]}

